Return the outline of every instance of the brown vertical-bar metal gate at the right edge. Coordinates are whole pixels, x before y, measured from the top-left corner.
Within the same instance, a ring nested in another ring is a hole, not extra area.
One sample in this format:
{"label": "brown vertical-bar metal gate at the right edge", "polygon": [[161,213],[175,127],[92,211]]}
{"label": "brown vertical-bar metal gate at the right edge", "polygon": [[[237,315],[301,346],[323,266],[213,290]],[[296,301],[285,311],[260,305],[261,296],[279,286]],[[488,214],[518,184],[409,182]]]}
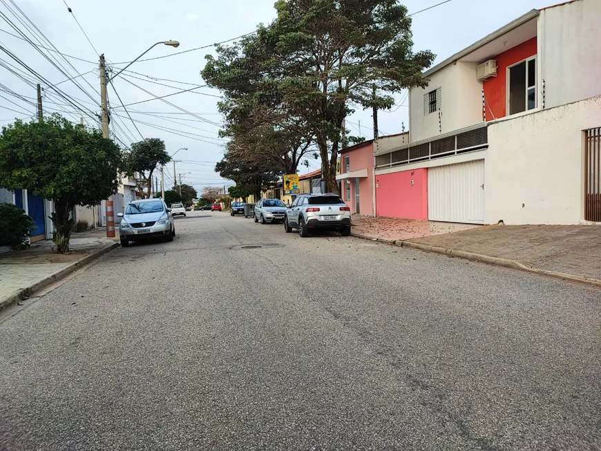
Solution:
{"label": "brown vertical-bar metal gate at the right edge", "polygon": [[584,193],[584,219],[601,222],[601,127],[586,131]]}

